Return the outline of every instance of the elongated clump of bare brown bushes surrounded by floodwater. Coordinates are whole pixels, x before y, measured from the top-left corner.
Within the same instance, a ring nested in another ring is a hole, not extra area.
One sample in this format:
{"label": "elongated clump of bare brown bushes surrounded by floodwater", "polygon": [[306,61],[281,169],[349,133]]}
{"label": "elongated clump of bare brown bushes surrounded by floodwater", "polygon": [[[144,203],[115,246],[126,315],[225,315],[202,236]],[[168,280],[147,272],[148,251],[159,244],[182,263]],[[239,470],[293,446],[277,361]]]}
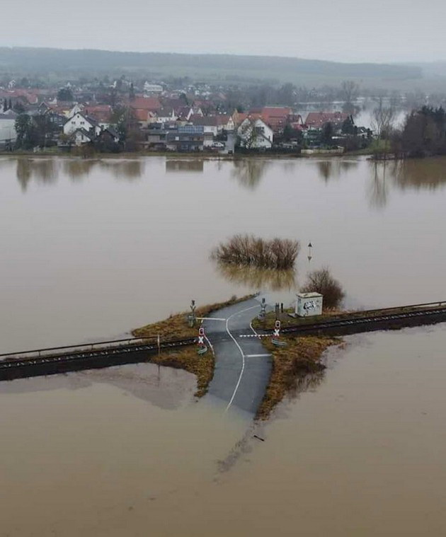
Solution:
{"label": "elongated clump of bare brown bushes surrounded by floodwater", "polygon": [[234,235],[227,243],[220,243],[211,257],[227,265],[288,270],[295,264],[299,249],[299,242],[288,238],[267,241],[253,235]]}

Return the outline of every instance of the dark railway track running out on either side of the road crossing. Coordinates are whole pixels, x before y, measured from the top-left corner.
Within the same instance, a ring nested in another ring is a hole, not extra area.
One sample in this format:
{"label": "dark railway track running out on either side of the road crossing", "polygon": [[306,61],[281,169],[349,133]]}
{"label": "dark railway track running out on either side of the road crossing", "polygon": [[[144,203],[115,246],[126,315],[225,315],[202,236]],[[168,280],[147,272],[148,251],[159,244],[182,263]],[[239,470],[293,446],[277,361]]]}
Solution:
{"label": "dark railway track running out on either side of the road crossing", "polygon": [[[442,322],[446,322],[446,301],[343,314],[314,323],[283,327],[281,333],[347,335]],[[263,337],[269,335],[272,336],[273,332],[259,334]],[[0,354],[0,381],[144,362],[161,350],[178,349],[196,342],[196,337],[158,341],[156,336],[152,336]]]}

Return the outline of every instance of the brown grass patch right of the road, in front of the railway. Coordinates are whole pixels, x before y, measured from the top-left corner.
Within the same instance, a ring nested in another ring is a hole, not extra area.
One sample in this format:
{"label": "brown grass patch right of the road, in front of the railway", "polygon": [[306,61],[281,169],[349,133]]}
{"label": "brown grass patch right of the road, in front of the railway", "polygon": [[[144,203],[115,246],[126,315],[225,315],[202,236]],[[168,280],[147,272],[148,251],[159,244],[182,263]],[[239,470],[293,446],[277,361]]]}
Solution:
{"label": "brown grass patch right of the road, in front of the railway", "polygon": [[268,419],[278,403],[308,376],[321,375],[325,366],[321,364],[322,353],[331,345],[340,345],[342,340],[335,337],[287,337],[287,347],[275,347],[270,340],[263,340],[265,347],[273,354],[273,371],[265,397],[257,412],[259,420]]}

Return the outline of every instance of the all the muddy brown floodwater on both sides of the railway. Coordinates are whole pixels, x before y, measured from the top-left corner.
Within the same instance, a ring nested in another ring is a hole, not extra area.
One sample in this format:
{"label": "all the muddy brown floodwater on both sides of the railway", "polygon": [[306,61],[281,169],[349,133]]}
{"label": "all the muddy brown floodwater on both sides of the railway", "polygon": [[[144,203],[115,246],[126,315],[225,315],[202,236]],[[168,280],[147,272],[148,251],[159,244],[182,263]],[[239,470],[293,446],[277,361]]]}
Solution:
{"label": "all the muddy brown floodwater on both sides of the railway", "polygon": [[[353,306],[446,299],[445,164],[1,159],[1,350],[268,287],[209,260],[238,232],[311,241]],[[0,536],[444,535],[444,325],[345,339],[256,427],[150,364],[0,383]]]}

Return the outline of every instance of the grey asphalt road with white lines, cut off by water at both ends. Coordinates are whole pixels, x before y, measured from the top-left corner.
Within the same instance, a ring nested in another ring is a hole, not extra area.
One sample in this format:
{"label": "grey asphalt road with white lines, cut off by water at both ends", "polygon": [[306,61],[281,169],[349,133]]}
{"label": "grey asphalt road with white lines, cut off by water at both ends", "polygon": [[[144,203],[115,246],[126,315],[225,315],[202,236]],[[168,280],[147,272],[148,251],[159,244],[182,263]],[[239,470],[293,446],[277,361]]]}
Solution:
{"label": "grey asphalt road with white lines, cut off by water at both ends", "polygon": [[272,357],[265,350],[251,321],[261,311],[258,299],[249,299],[211,313],[203,321],[207,339],[215,352],[214,377],[209,395],[224,403],[256,414],[270,379]]}

